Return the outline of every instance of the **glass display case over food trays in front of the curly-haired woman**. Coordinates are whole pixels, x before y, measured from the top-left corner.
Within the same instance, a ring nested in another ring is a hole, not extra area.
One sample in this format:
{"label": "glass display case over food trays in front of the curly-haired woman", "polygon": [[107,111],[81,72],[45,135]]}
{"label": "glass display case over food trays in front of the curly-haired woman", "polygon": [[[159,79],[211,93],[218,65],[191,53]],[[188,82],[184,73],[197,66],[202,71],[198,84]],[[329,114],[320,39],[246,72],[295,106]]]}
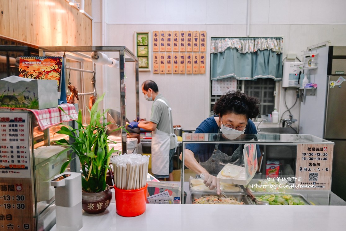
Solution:
{"label": "glass display case over food trays in front of the curly-haired woman", "polygon": [[334,142],[312,135],[184,133],[182,143],[181,187],[191,198],[186,203],[216,195],[196,174],[200,166],[219,179],[227,197],[244,204],[255,204],[244,199],[246,188],[270,204],[330,203]]}

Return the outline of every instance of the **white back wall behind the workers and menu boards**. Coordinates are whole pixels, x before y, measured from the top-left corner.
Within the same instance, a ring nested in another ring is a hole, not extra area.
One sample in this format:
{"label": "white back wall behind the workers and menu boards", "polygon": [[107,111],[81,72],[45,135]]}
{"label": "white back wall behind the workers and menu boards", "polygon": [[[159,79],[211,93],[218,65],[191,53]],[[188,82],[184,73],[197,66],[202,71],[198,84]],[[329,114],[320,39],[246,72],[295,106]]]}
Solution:
{"label": "white back wall behind the workers and menu boards", "polygon": [[[210,37],[246,36],[247,1],[245,0],[103,0],[106,16],[106,44],[127,46],[134,50],[134,32],[153,30],[206,30],[207,51]],[[331,45],[345,46],[346,1],[344,0],[250,0],[249,36],[283,36],[284,54],[297,54],[308,46],[326,40]],[[93,1],[101,4],[101,1]],[[93,8],[94,9],[94,8]],[[97,8],[96,8],[97,9]],[[100,10],[96,11],[100,12]],[[100,18],[94,16],[94,18]],[[95,32],[99,23],[95,23]],[[101,35],[95,34],[94,37]],[[97,39],[93,39],[97,41]],[[100,39],[99,39],[100,41]],[[100,45],[95,44],[94,45]],[[209,57],[209,56],[207,56]],[[173,75],[140,72],[139,83],[154,80],[170,101],[173,123],[183,129],[195,129],[209,115],[209,62],[204,75]],[[134,68],[126,66],[127,117],[135,118]],[[106,83],[107,84],[107,83]],[[283,92],[279,94],[279,112],[286,110]],[[110,101],[117,101],[111,99]],[[286,103],[291,107],[295,90],[286,91]],[[299,105],[291,109],[298,119]],[[140,117],[149,118],[151,103],[140,95]],[[287,113],[284,118],[288,117]]]}

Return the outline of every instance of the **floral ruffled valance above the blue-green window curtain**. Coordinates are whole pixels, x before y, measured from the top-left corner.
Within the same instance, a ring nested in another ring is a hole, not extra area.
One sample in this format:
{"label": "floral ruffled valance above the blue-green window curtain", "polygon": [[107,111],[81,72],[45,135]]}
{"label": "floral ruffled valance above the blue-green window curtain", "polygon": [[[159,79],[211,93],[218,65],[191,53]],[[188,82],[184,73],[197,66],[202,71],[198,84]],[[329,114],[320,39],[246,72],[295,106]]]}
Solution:
{"label": "floral ruffled valance above the blue-green window curtain", "polygon": [[283,38],[211,38],[210,53],[224,52],[228,47],[239,53],[254,53],[257,50],[271,49],[276,54],[283,52]]}

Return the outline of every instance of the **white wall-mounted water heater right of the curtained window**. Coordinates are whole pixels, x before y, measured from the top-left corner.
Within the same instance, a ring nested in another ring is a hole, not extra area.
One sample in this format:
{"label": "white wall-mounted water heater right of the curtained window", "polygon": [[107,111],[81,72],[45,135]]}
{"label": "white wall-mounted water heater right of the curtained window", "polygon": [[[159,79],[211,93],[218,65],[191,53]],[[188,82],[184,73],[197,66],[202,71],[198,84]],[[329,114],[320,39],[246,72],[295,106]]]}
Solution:
{"label": "white wall-mounted water heater right of the curtained window", "polygon": [[302,74],[304,63],[302,62],[284,62],[282,73],[282,87],[300,87],[303,81]]}

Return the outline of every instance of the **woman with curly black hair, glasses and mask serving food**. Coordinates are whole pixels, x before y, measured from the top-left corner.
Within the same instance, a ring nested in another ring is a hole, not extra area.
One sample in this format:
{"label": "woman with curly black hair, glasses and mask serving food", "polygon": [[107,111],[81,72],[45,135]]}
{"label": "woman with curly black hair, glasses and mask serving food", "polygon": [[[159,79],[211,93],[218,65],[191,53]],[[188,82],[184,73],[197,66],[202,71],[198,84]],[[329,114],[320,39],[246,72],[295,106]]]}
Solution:
{"label": "woman with curly black hair, glasses and mask serving food", "polygon": [[[205,119],[195,133],[217,133],[216,141],[237,139],[241,134],[257,134],[256,126],[251,118],[260,114],[260,101],[242,93],[239,90],[229,91],[214,105],[214,114]],[[233,135],[232,135],[233,134]],[[235,134],[235,135],[234,135]],[[251,136],[247,136],[251,138]],[[257,146],[257,154],[260,150]],[[185,166],[198,175],[204,174],[204,183],[210,190],[217,188],[220,194],[220,184],[216,175],[227,163],[244,164],[243,145],[239,144],[188,144],[184,150]],[[199,163],[195,159],[198,156]],[[180,159],[182,158],[180,154]]]}

